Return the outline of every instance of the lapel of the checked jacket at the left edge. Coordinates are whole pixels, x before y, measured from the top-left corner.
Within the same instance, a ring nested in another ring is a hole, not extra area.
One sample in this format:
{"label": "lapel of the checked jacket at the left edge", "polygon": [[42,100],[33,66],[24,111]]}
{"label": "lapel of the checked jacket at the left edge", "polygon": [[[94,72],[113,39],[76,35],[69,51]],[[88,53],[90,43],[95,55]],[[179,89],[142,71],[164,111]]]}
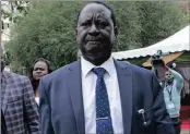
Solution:
{"label": "lapel of the checked jacket at the left edge", "polygon": [[8,99],[9,99],[9,88],[8,88],[8,84],[9,84],[9,78],[10,78],[10,74],[5,71],[3,71],[2,73],[2,80],[1,80],[1,109],[2,112],[4,114],[5,110],[7,110],[7,103],[8,103]]}

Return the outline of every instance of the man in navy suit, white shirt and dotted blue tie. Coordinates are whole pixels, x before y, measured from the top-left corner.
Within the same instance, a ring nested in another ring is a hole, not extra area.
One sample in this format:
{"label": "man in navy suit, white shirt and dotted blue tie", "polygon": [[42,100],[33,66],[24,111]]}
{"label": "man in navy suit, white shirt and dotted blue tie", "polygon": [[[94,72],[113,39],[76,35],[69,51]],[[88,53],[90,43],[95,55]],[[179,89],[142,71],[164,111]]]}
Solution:
{"label": "man in navy suit, white shirt and dotted blue tie", "polygon": [[154,73],[111,58],[117,35],[107,4],[81,10],[81,60],[40,80],[43,134],[174,134]]}

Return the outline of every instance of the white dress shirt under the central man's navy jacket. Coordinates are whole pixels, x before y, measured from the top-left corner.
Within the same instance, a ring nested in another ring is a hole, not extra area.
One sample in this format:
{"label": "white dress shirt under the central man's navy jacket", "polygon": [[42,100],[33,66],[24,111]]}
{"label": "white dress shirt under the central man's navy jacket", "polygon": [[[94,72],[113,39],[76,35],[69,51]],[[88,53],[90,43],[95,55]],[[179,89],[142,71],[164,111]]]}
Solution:
{"label": "white dress shirt under the central man's navy jacket", "polygon": [[96,89],[97,76],[92,72],[93,68],[104,68],[106,70],[106,73],[104,75],[104,81],[107,87],[114,133],[122,134],[123,124],[122,124],[120,92],[119,92],[119,84],[118,84],[118,77],[114,59],[109,58],[102,65],[95,66],[91,62],[86,61],[83,57],[81,57],[85,133],[86,134],[96,133],[95,89]]}

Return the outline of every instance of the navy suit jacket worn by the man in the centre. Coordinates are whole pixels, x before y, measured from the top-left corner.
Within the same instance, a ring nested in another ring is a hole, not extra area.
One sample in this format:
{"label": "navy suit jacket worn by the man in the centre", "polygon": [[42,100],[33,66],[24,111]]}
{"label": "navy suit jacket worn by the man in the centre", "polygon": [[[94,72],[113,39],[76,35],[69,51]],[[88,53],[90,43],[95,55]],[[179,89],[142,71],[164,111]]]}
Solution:
{"label": "navy suit jacket worn by the man in the centre", "polygon": [[[152,71],[115,61],[124,134],[175,134],[163,89]],[[81,62],[63,66],[39,84],[43,134],[84,134]],[[86,101],[86,100],[85,100]],[[140,109],[145,110],[143,124]]]}

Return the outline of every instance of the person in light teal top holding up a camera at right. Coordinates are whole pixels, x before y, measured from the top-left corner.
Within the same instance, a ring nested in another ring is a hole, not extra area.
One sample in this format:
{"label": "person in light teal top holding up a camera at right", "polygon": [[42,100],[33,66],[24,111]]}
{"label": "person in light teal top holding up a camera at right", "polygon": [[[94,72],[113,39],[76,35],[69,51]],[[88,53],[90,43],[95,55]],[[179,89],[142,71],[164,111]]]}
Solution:
{"label": "person in light teal top holding up a camera at right", "polygon": [[181,121],[180,121],[180,101],[181,101],[181,89],[183,87],[183,77],[175,70],[168,68],[166,64],[164,68],[165,81],[162,82],[164,88],[164,98],[167,111],[173,121],[176,134],[180,134]]}

